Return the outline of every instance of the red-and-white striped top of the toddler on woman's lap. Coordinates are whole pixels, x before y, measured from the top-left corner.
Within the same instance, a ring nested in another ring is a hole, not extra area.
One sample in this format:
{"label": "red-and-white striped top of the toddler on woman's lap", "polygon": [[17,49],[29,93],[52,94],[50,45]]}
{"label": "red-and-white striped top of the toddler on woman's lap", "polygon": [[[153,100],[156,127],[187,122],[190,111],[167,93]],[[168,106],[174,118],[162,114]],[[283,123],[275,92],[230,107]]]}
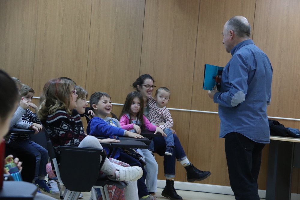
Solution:
{"label": "red-and-white striped top of the toddler on woman's lap", "polygon": [[148,119],[152,124],[158,124],[161,122],[165,122],[165,124],[159,126],[162,130],[165,128],[173,127],[173,119],[171,117],[170,111],[164,106],[163,108],[159,108],[156,106],[156,101],[150,97],[148,99],[149,105],[149,115]]}

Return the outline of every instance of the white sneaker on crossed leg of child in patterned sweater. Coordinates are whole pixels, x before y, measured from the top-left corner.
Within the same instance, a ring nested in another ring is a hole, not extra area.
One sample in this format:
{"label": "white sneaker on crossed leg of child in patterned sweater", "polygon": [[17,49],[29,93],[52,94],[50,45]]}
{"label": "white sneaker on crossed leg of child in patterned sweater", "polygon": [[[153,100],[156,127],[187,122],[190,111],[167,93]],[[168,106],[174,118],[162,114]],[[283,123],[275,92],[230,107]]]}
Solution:
{"label": "white sneaker on crossed leg of child in patterned sweater", "polygon": [[116,178],[113,181],[136,181],[143,175],[142,168],[138,166],[116,168]]}

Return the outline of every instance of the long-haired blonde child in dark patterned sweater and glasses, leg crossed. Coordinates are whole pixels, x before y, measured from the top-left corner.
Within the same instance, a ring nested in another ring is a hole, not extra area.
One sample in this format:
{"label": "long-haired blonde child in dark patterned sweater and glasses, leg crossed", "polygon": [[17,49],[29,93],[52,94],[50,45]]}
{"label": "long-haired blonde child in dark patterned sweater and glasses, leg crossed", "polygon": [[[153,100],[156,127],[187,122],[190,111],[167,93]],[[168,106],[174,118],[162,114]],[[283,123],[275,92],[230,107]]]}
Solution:
{"label": "long-haired blonde child in dark patterned sweater and glasses, leg crossed", "polygon": [[[72,110],[77,107],[77,97],[74,82],[67,79],[49,80],[41,94],[38,116],[49,133],[58,163],[61,145],[102,149],[100,142],[119,142],[115,139],[100,140],[85,134],[78,112],[72,115]],[[142,176],[142,169],[122,167],[107,158],[100,170],[115,181],[135,181]],[[125,198],[138,199],[135,191],[125,191]]]}

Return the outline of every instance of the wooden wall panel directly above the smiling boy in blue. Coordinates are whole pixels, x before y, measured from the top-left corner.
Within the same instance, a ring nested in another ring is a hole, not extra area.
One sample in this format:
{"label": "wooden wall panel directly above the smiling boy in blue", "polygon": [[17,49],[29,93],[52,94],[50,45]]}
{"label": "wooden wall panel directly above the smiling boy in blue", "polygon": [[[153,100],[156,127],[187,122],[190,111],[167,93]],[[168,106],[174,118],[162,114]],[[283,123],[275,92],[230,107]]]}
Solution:
{"label": "wooden wall panel directly above the smiling boy in blue", "polygon": [[124,103],[140,73],[145,0],[93,1],[86,89]]}

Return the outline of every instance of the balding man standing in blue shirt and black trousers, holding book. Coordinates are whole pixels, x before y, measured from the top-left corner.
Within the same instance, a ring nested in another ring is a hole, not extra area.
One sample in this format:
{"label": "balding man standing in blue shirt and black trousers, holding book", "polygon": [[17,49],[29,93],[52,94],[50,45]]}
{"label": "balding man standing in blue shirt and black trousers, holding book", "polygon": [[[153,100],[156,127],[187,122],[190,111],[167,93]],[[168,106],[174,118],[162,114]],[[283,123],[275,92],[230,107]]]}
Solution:
{"label": "balding man standing in blue shirt and black trousers, holding book", "polygon": [[267,106],[273,69],[267,55],[250,40],[250,31],[243,16],[225,23],[222,43],[232,58],[223,69],[220,91],[208,91],[219,104],[220,138],[225,138],[229,181],[236,200],[259,200],[261,152],[270,142]]}

